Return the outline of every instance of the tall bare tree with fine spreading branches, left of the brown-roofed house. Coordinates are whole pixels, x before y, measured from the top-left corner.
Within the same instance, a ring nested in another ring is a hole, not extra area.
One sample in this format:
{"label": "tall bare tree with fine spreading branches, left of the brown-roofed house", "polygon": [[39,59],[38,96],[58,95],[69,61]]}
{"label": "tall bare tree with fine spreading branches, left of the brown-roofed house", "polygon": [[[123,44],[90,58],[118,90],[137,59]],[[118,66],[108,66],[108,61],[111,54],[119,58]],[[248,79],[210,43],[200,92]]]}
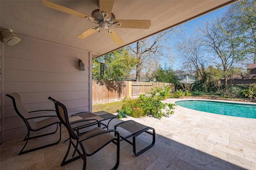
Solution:
{"label": "tall bare tree with fine spreading branches, left of the brown-roofed house", "polygon": [[214,21],[207,20],[203,26],[197,27],[203,50],[208,54],[208,60],[220,66],[224,72],[225,84],[228,72],[240,58],[240,44],[235,41],[238,35],[234,34],[234,27],[228,24],[229,18],[219,16]]}

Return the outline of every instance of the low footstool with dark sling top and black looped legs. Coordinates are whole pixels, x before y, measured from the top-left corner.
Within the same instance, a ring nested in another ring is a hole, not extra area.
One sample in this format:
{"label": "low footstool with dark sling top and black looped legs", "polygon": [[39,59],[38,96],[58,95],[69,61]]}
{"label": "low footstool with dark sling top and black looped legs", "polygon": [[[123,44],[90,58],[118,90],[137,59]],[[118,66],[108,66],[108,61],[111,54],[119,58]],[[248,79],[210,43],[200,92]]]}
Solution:
{"label": "low footstool with dark sling top and black looped legs", "polygon": [[[155,132],[155,129],[152,127],[142,125],[133,120],[123,121],[121,123],[118,123],[117,125],[114,126],[115,130],[116,130],[116,127],[121,127],[122,129],[125,129],[126,131],[131,133],[130,135],[128,135],[126,137],[123,137],[122,135],[120,135],[120,138],[122,138],[122,139],[120,139],[120,141],[125,140],[126,142],[130,143],[133,146],[133,153],[136,156],[138,156],[138,155],[142,154],[143,152],[145,152],[146,150],[150,149],[155,144],[156,132]],[[152,129],[153,133],[148,131],[149,129]],[[152,135],[152,143],[150,145],[148,145],[147,147],[145,147],[144,149],[140,150],[139,152],[136,152],[136,137],[143,132]],[[132,142],[127,140],[127,138],[129,138],[129,137],[132,137]]]}

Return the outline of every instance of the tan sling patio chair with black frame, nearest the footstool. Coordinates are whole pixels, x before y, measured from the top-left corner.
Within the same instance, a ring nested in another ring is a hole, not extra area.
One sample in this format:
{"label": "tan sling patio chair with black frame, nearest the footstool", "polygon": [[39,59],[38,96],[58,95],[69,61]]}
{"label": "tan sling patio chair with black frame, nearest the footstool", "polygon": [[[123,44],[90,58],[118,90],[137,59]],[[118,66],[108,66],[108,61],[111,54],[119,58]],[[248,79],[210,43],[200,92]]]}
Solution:
{"label": "tan sling patio chair with black frame, nearest the footstool", "polygon": [[[82,134],[81,136],[78,136],[70,126],[66,106],[64,106],[64,104],[58,102],[57,100],[51,97],[49,97],[48,99],[54,102],[56,113],[62,124],[67,128],[69,133],[68,150],[66,152],[66,155],[64,156],[64,159],[62,160],[61,166],[64,166],[65,164],[68,164],[78,158],[82,158],[84,161],[83,170],[85,170],[86,156],[92,156],[93,154],[95,154],[96,152],[98,152],[99,150],[101,150],[106,145],[112,142],[116,145],[116,164],[114,168],[112,168],[112,170],[116,170],[119,166],[120,155],[120,135],[118,131],[114,129],[104,130],[101,127],[99,127],[100,124],[98,122],[98,127],[95,127],[94,129]],[[114,132],[114,135],[112,135],[110,132]],[[72,140],[74,140],[74,142]],[[78,144],[80,146],[80,149],[78,149]],[[73,154],[72,158],[66,160],[71,145],[74,147],[75,151],[78,152],[78,156],[74,157]],[[80,152],[80,150],[82,150],[82,152]]]}

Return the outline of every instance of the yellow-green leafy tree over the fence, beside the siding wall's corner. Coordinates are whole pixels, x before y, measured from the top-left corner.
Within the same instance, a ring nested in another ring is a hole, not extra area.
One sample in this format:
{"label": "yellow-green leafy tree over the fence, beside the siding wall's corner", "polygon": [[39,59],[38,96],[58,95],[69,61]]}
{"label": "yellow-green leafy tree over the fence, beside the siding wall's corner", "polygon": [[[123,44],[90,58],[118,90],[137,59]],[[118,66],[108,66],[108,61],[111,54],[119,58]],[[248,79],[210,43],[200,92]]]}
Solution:
{"label": "yellow-green leafy tree over the fence, beside the siding wall's corner", "polygon": [[[100,63],[104,63],[104,74],[100,77]],[[138,63],[137,59],[128,55],[124,48],[92,59],[92,79],[94,80],[124,80]]]}

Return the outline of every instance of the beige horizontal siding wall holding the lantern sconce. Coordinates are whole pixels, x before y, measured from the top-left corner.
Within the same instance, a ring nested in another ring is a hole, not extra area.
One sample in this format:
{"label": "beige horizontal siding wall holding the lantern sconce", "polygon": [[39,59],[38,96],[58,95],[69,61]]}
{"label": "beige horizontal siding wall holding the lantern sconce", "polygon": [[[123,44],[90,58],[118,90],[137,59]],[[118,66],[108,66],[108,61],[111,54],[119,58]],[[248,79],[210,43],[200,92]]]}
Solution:
{"label": "beige horizontal siding wall holding the lantern sconce", "polygon": [[[1,142],[25,137],[27,133],[24,122],[14,111],[12,100],[5,96],[7,93],[19,93],[28,111],[54,109],[49,96],[65,104],[70,115],[92,111],[92,54],[66,45],[19,37],[18,44],[2,44],[1,48],[1,94],[4,99]],[[84,71],[78,70],[78,59],[85,64]]]}

